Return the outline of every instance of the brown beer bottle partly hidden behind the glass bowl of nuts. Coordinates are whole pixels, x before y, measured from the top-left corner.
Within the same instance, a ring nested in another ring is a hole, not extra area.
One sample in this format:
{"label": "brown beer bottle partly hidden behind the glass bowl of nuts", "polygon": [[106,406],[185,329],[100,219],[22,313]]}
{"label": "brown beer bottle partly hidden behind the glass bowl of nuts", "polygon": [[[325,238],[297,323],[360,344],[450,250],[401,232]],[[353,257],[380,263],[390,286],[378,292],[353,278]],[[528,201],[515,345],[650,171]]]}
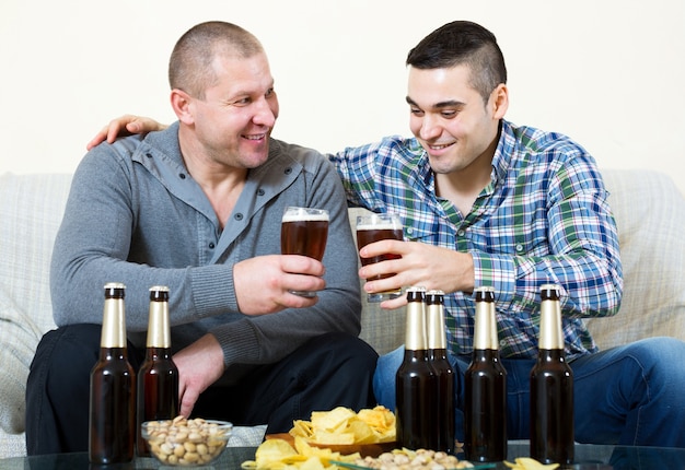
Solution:
{"label": "brown beer bottle partly hidden behind the glass bowl of nuts", "polygon": [[138,371],[137,450],[149,456],[140,425],[151,420],[172,420],[178,414],[178,368],[172,360],[169,322],[169,287],[150,287],[150,316],[146,359]]}

